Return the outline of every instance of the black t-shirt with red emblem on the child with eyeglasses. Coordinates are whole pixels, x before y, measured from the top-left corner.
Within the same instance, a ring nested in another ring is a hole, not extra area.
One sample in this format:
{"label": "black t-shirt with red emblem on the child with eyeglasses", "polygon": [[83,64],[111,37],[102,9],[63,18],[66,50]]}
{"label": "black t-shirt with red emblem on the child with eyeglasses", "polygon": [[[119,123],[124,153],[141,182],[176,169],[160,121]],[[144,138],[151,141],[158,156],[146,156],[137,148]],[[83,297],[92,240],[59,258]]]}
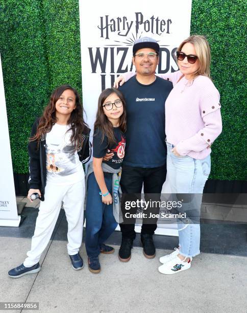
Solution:
{"label": "black t-shirt with red emblem on the child with eyeglasses", "polygon": [[116,143],[109,145],[108,138],[105,136],[102,142],[102,131],[96,129],[93,133],[93,157],[103,158],[110,150],[109,153],[114,152],[113,158],[109,161],[103,161],[114,169],[118,169],[125,156],[125,134],[119,129],[119,127],[113,127],[114,137]]}

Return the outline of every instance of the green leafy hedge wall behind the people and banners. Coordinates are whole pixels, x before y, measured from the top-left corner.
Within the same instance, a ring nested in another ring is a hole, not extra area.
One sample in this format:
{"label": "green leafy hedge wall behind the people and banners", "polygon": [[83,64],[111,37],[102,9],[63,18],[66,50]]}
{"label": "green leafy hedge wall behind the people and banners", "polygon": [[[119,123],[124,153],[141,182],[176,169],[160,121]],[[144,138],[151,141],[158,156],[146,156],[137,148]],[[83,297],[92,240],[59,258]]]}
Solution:
{"label": "green leafy hedge wall behind the people and banners", "polygon": [[[205,35],[210,42],[211,74],[221,96],[224,128],[212,147],[210,175],[218,180],[245,179],[244,13],[243,0],[192,0],[191,34]],[[31,126],[52,90],[69,83],[82,92],[79,24],[76,0],[0,0],[0,53],[15,173],[28,172]]]}

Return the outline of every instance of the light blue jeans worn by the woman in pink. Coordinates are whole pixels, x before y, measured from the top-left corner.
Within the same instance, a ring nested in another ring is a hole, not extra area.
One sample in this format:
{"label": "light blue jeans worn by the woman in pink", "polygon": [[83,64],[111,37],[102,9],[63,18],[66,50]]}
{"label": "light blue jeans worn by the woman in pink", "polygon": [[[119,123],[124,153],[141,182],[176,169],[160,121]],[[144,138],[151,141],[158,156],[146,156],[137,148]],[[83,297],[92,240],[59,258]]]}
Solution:
{"label": "light blue jeans worn by the woman in pink", "polygon": [[[176,157],[171,152],[174,145],[167,145],[167,177],[172,194],[190,194],[191,200],[187,206],[187,212],[196,212],[194,219],[186,218],[178,222],[179,253],[185,257],[194,257],[200,254],[200,212],[203,196],[203,188],[208,179],[211,160],[210,154],[203,160],[188,157]],[[194,200],[195,199],[195,200]]]}

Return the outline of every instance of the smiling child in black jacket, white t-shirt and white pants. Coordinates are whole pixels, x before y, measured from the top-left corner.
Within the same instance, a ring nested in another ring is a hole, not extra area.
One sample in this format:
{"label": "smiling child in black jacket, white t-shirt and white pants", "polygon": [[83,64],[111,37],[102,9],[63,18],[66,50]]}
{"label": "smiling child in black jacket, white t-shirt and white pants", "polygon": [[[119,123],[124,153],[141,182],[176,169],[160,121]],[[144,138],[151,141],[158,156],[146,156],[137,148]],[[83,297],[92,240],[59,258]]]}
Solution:
{"label": "smiling child in black jacket, white t-shirt and white pants", "polygon": [[82,163],[90,159],[90,129],[83,121],[78,92],[69,85],[51,95],[31,131],[28,145],[30,190],[41,198],[31,250],[24,262],[9,271],[13,278],[40,271],[39,259],[51,239],[63,202],[68,221],[68,255],[75,270],[83,267],[82,243],[85,177]]}

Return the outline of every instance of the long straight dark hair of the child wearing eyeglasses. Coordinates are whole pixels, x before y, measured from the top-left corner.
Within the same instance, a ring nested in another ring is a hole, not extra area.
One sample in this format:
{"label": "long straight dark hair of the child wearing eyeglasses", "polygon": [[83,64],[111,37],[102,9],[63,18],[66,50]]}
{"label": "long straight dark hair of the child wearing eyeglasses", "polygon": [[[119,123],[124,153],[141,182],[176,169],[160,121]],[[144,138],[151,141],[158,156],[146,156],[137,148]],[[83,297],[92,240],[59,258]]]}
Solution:
{"label": "long straight dark hair of the child wearing eyeglasses", "polygon": [[97,115],[96,115],[96,121],[94,123],[94,132],[98,129],[102,131],[102,141],[104,137],[106,136],[108,138],[109,144],[115,143],[115,137],[113,132],[113,125],[108,120],[106,115],[104,114],[104,108],[103,104],[105,100],[111,95],[115,93],[119,99],[122,101],[122,106],[124,108],[124,111],[122,115],[119,118],[119,128],[122,132],[126,132],[126,102],[125,98],[122,95],[122,93],[116,89],[116,88],[107,88],[103,90],[103,92],[100,94],[100,97],[98,98],[98,109],[97,109]]}

